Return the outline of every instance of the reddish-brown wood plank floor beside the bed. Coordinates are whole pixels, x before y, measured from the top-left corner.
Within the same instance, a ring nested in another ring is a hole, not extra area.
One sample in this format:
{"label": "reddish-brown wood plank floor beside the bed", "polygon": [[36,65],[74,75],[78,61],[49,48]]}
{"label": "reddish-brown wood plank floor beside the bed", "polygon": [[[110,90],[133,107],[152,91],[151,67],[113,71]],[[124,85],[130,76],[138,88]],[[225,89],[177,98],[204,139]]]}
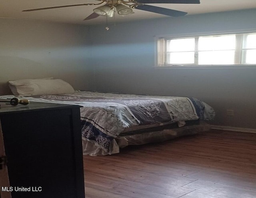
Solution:
{"label": "reddish-brown wood plank floor beside the bed", "polygon": [[84,156],[86,198],[256,198],[256,134],[212,130]]}

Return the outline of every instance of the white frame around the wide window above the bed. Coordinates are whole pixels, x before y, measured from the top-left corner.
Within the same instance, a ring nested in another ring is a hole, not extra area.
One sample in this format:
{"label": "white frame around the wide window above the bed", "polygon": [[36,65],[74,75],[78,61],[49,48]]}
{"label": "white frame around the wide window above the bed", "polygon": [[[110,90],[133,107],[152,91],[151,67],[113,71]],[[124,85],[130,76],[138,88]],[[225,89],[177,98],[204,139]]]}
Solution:
{"label": "white frame around the wide window above the bed", "polygon": [[[170,64],[170,65],[162,65],[158,64],[159,57],[164,59],[164,56],[158,55],[158,40],[160,38],[186,38],[186,37],[194,37],[198,38],[199,36],[217,36],[217,35],[225,35],[225,34],[250,34],[256,33],[256,29],[247,29],[247,30],[234,30],[234,31],[215,31],[215,32],[196,32],[196,33],[188,33],[188,34],[164,34],[164,35],[157,35],[154,36],[155,40],[155,65],[154,68],[156,69],[193,69],[193,68],[204,68],[204,69],[221,69],[221,68],[256,68],[256,64],[215,64],[215,65],[198,65],[198,64]],[[242,41],[240,39],[240,41]],[[238,45],[242,45],[242,42],[236,42]],[[164,48],[164,46],[162,46]],[[238,53],[238,51],[236,51]],[[198,51],[195,50],[195,56],[197,56]],[[235,56],[240,56],[240,60],[242,58],[242,53],[235,54]]]}

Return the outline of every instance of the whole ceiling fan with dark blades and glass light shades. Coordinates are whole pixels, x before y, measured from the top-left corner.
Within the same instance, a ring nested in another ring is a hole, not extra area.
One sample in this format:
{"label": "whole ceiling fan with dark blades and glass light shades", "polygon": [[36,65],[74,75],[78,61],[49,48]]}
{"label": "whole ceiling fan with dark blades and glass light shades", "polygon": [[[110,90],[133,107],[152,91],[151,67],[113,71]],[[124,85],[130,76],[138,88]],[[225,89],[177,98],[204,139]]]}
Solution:
{"label": "whole ceiling fan with dark blades and glass light shades", "polygon": [[93,18],[97,18],[98,16],[107,16],[112,17],[114,13],[119,15],[128,15],[134,14],[132,9],[145,10],[148,12],[155,12],[158,14],[163,14],[167,16],[184,16],[188,14],[187,12],[182,12],[179,10],[172,10],[168,8],[162,8],[157,6],[151,6],[147,4],[200,4],[200,0],[97,0],[100,1],[96,4],[73,4],[73,5],[65,5],[65,6],[54,6],[47,8],[36,8],[30,10],[22,10],[22,12],[30,12],[37,10],[48,10],[55,8],[66,8],[66,7],[74,7],[74,6],[94,6],[104,4],[100,7],[94,8],[93,13],[86,17],[84,20],[90,20]]}

